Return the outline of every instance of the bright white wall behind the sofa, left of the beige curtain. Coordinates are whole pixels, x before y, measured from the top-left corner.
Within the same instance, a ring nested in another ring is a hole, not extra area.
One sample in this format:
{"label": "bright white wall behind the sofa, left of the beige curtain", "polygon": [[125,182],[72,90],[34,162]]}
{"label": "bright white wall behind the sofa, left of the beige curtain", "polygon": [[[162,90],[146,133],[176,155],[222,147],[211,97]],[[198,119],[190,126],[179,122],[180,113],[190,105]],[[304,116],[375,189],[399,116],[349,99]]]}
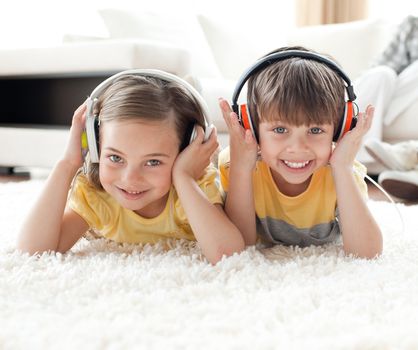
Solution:
{"label": "bright white wall behind the sofa, left of the beige curtain", "polygon": [[292,0],[0,0],[0,48],[62,42],[65,33],[106,36],[98,8],[203,13],[251,28],[277,31],[294,26]]}

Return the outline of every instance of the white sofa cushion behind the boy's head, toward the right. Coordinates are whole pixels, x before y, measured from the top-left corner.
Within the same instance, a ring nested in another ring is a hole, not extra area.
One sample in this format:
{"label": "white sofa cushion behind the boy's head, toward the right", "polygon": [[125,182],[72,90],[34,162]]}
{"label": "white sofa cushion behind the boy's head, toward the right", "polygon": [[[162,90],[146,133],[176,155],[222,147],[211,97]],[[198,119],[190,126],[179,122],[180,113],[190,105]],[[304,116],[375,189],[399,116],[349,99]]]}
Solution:
{"label": "white sofa cushion behind the boy's head, toward the right", "polygon": [[290,32],[288,45],[331,55],[354,80],[383,51],[394,28],[383,20],[308,26]]}

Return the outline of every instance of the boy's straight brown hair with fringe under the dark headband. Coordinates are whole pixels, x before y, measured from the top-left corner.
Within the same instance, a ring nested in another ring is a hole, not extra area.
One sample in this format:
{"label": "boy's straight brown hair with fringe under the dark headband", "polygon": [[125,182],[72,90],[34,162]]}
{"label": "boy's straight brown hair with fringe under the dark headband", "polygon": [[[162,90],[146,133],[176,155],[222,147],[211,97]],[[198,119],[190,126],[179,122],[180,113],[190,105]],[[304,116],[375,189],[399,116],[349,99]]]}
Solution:
{"label": "boy's straight brown hair with fringe under the dark headband", "polygon": [[[312,52],[286,47],[271,53],[285,50]],[[260,122],[274,120],[337,127],[344,112],[344,95],[344,81],[335,71],[300,57],[277,61],[248,80],[248,107],[256,130]]]}

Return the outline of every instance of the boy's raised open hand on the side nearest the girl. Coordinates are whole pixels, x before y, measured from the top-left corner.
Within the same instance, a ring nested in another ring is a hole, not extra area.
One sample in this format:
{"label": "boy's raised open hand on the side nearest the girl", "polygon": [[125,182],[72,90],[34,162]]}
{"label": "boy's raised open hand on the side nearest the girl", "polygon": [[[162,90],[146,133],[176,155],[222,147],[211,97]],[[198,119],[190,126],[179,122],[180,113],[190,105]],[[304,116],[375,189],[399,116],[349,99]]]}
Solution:
{"label": "boy's raised open hand on the side nearest the girl", "polygon": [[219,99],[219,106],[222,116],[228,127],[229,148],[231,164],[239,170],[251,171],[257,161],[258,145],[251,130],[245,130],[238,121],[238,116],[234,113],[224,99]]}

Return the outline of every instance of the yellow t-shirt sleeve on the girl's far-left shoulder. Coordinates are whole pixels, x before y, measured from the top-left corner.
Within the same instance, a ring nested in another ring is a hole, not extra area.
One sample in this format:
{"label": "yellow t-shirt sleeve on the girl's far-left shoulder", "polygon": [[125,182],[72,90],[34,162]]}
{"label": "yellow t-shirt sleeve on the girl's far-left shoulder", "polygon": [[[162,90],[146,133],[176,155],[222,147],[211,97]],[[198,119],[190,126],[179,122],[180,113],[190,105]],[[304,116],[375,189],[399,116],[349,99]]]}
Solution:
{"label": "yellow t-shirt sleeve on the girl's far-left shoulder", "polygon": [[98,190],[89,184],[84,175],[78,175],[70,191],[69,207],[80,215],[90,226],[100,230],[103,219],[109,216]]}

